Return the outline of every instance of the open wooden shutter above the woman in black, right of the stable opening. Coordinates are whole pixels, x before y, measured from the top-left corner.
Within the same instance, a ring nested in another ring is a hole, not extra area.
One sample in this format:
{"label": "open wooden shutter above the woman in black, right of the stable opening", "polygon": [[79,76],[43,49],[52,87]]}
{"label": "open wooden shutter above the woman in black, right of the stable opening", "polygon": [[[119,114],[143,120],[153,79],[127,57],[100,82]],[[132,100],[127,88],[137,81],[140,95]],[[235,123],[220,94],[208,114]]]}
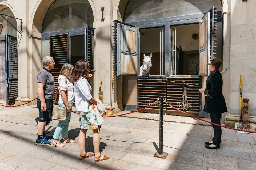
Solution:
{"label": "open wooden shutter above the woman in black, right of the stable opening", "polygon": [[213,7],[203,16],[199,23],[199,75],[208,76],[210,74],[208,64],[216,55],[216,22],[215,10]]}

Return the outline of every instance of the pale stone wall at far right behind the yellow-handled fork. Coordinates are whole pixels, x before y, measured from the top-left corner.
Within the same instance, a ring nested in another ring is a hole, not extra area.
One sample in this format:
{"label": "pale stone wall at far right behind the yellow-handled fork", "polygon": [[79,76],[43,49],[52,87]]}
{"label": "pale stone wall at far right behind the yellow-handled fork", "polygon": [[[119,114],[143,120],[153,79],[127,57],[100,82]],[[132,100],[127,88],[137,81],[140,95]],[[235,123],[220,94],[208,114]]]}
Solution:
{"label": "pale stone wall at far right behind the yellow-handled fork", "polygon": [[240,114],[242,98],[250,99],[250,116],[256,116],[256,1],[230,1],[230,114]]}

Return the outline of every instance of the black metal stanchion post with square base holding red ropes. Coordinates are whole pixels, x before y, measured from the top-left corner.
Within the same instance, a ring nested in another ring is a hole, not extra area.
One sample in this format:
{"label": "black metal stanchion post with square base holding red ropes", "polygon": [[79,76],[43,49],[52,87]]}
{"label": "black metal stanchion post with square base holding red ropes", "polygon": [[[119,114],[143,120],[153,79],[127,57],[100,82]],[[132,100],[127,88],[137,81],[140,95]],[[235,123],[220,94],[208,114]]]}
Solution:
{"label": "black metal stanchion post with square base holding red ropes", "polygon": [[163,152],[163,96],[160,96],[160,120],[159,120],[159,152],[154,157],[165,159],[168,153]]}

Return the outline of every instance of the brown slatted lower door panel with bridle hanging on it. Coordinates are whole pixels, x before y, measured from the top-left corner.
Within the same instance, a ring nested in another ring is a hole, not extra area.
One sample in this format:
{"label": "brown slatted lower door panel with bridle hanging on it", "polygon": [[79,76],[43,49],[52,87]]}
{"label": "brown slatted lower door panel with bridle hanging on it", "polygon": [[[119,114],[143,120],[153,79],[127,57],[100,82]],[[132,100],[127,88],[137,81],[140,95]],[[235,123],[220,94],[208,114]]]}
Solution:
{"label": "brown slatted lower door panel with bridle hanging on it", "polygon": [[[174,107],[181,109],[182,95],[184,92],[183,81],[186,84],[197,86],[187,87],[187,99],[191,105],[187,112],[199,112],[199,77],[167,77],[167,102]],[[167,111],[176,111],[171,107],[167,107]],[[177,111],[178,112],[178,111]]]}

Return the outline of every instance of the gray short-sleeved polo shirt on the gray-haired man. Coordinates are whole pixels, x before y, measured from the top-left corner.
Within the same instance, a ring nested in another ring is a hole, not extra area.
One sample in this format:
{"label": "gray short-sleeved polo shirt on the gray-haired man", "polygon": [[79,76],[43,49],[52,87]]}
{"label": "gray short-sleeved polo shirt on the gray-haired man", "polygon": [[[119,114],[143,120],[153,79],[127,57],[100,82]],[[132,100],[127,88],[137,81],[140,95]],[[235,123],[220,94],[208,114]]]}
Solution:
{"label": "gray short-sleeved polo shirt on the gray-haired man", "polygon": [[[40,70],[37,75],[37,82],[45,84],[43,86],[45,99],[53,99],[53,95],[55,92],[55,83],[54,83],[54,77],[51,74],[51,72],[45,67],[43,67],[42,70]],[[38,94],[37,94],[37,98],[39,99]]]}

